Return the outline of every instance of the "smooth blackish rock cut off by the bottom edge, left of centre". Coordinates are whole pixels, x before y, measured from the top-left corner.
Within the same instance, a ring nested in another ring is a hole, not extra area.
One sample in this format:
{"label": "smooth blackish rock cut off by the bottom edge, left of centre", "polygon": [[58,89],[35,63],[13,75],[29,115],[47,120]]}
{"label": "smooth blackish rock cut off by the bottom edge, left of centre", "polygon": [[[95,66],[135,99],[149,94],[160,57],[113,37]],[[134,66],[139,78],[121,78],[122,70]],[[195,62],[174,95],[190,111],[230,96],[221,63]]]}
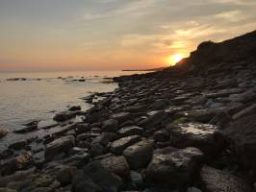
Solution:
{"label": "smooth blackish rock cut off by the bottom edge, left of centre", "polygon": [[84,172],[102,191],[117,192],[122,181],[115,174],[105,169],[100,161],[92,161],[86,167]]}

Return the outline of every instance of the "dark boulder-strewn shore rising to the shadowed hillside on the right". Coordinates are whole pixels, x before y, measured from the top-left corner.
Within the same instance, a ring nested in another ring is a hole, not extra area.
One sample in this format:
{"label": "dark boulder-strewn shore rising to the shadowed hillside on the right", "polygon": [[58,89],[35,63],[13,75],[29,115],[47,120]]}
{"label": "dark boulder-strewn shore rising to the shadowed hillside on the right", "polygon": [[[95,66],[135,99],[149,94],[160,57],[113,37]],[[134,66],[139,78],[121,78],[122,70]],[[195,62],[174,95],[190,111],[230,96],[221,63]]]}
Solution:
{"label": "dark boulder-strewn shore rising to the shadowed hillside on the right", "polygon": [[256,32],[114,80],[88,111],[56,114],[63,130],[1,152],[0,192],[256,191]]}

